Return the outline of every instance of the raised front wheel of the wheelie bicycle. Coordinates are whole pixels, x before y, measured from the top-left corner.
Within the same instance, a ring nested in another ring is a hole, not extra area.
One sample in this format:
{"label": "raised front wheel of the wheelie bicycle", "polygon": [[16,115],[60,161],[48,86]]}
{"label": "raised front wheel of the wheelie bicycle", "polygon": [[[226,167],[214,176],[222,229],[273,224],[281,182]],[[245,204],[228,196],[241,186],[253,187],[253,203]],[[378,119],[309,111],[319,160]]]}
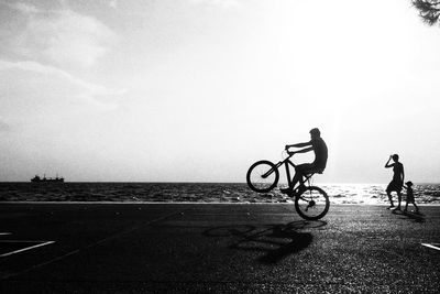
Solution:
{"label": "raised front wheel of the wheelie bicycle", "polygon": [[248,186],[257,193],[267,193],[278,183],[278,168],[270,161],[258,161],[248,170]]}

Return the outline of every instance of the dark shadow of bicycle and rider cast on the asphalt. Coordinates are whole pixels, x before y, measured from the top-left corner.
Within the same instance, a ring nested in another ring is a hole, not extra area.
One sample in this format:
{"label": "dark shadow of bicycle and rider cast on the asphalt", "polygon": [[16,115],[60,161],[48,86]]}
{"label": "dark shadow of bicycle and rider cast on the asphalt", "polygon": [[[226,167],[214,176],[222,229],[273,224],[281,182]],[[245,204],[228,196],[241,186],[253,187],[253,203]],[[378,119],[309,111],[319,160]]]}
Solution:
{"label": "dark shadow of bicycle and rider cast on the asphalt", "polygon": [[230,237],[233,242],[229,248],[264,252],[265,254],[257,258],[257,261],[263,264],[275,264],[311,244],[312,233],[299,230],[320,228],[326,225],[327,222],[322,220],[298,220],[287,225],[266,226],[232,225],[210,228],[202,235],[207,237]]}

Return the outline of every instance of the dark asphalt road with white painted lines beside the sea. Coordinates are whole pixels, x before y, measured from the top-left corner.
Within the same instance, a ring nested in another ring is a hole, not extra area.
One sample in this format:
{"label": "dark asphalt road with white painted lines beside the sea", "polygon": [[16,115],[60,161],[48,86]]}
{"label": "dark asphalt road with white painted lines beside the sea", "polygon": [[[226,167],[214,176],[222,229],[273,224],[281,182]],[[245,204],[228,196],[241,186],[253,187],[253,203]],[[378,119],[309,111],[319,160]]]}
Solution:
{"label": "dark asphalt road with white painted lines beside the sea", "polygon": [[440,207],[420,210],[3,203],[0,292],[440,293]]}

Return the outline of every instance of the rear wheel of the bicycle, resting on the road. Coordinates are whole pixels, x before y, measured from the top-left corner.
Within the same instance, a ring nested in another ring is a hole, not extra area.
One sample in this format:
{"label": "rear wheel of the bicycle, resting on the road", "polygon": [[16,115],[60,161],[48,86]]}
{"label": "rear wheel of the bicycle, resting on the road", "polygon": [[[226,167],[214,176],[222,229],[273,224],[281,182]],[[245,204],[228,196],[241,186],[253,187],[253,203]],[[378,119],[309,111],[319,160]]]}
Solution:
{"label": "rear wheel of the bicycle, resting on the road", "polygon": [[322,218],[329,211],[330,202],[327,193],[315,186],[306,187],[301,195],[295,197],[295,209],[307,220]]}

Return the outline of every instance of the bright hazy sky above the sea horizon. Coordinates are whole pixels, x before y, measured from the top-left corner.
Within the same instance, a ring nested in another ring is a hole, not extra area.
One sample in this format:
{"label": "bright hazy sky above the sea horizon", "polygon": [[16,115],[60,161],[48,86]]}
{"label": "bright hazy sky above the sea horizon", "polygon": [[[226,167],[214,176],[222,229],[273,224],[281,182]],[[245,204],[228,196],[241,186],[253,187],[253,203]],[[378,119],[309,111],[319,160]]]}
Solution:
{"label": "bright hazy sky above the sea horizon", "polygon": [[394,153],[440,182],[440,28],[409,0],[0,0],[0,181],[245,182],[319,128],[318,182],[385,184]]}

